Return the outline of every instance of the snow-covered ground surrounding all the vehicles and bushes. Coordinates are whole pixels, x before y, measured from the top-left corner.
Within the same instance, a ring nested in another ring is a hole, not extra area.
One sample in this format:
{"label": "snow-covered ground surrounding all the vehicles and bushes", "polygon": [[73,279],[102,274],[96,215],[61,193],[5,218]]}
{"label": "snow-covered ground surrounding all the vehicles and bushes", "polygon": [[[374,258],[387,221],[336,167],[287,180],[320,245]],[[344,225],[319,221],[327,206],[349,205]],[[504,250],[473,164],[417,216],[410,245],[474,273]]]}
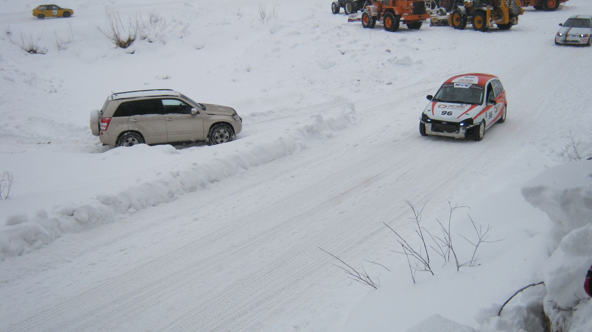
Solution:
{"label": "snow-covered ground surrounding all the vehicles and bushes", "polygon": [[[590,48],[553,38],[590,2],[526,8],[510,31],[388,33],[318,0],[110,1],[124,21],[166,20],[128,49],[97,28],[103,2],[59,3],[74,15],[46,20],[37,5],[0,7],[0,171],[14,175],[0,201],[0,330],[532,332],[543,305],[560,320],[554,305],[585,297],[592,162],[568,163],[566,136],[590,157],[592,64]],[[261,5],[276,15],[259,20]],[[419,136],[425,96],[468,72],[500,77],[506,123],[479,142]],[[218,146],[101,146],[89,111],[153,88],[233,107],[243,132]],[[384,224],[419,246],[404,200],[427,202],[422,224],[438,235],[448,201],[470,207],[452,215],[461,260],[468,215],[503,241],[459,271],[430,251],[434,275],[413,283]],[[591,305],[567,311],[574,330],[590,330]]]}

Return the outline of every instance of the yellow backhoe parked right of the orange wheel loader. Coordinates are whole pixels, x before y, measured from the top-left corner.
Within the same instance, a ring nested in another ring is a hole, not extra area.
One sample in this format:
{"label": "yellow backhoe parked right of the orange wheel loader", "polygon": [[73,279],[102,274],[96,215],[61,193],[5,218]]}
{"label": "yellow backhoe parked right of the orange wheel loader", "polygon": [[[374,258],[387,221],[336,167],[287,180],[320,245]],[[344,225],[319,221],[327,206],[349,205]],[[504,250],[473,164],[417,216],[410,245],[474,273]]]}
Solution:
{"label": "yellow backhoe parked right of the orange wheel loader", "polygon": [[467,23],[477,31],[487,31],[494,24],[508,30],[518,24],[522,14],[524,9],[519,0],[461,0],[453,7],[449,21],[453,28],[461,30]]}

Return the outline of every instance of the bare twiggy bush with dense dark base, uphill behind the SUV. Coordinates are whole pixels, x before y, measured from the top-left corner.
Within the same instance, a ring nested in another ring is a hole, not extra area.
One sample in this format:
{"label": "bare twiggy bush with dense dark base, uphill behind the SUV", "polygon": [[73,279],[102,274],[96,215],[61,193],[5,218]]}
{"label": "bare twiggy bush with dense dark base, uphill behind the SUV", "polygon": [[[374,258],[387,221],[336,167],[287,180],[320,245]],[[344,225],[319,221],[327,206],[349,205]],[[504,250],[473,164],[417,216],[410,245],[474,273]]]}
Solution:
{"label": "bare twiggy bush with dense dark base, uphill behind the SUV", "polygon": [[97,25],[96,28],[110,38],[115,46],[127,49],[136,40],[138,20],[128,17],[127,24],[124,24],[118,11],[113,7],[105,7],[105,27]]}

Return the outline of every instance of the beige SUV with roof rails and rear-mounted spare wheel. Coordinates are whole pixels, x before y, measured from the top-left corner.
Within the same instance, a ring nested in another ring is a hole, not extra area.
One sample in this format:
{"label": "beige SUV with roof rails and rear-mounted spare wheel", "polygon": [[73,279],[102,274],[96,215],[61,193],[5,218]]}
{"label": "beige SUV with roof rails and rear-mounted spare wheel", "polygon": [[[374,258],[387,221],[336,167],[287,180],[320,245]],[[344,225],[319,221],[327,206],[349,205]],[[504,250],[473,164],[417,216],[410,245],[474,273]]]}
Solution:
{"label": "beige SUV with roof rails and rear-mounted spare wheel", "polygon": [[226,143],[243,129],[233,108],[200,104],[170,89],[128,91],[91,111],[91,130],[103,144],[133,146],[206,140]]}

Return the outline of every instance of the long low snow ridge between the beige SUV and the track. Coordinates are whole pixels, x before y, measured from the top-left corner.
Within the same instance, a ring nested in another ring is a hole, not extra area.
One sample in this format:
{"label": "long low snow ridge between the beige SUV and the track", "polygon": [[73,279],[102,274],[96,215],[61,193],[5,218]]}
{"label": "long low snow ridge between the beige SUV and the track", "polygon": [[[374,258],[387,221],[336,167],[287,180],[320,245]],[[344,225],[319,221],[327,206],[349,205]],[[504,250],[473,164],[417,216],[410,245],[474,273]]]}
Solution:
{"label": "long low snow ridge between the beige SUV and the track", "polygon": [[[97,193],[89,200],[56,205],[51,209],[30,208],[30,211],[36,211],[32,215],[26,211],[9,215],[5,225],[0,226],[0,260],[39,249],[61,234],[112,223],[118,216],[169,202],[178,195],[236,175],[242,169],[307,149],[307,144],[333,137],[334,132],[355,124],[358,118],[353,104],[344,105],[342,111],[324,115],[311,115],[301,127],[275,133],[275,137],[266,133],[210,147],[208,156],[204,156],[204,149],[185,153],[180,160],[175,160],[174,166],[169,166],[168,172],[158,172],[141,183],[132,182],[133,185],[118,192]],[[154,156],[155,149],[177,153],[169,145],[150,147],[140,144],[118,147],[104,154],[131,152]]]}

